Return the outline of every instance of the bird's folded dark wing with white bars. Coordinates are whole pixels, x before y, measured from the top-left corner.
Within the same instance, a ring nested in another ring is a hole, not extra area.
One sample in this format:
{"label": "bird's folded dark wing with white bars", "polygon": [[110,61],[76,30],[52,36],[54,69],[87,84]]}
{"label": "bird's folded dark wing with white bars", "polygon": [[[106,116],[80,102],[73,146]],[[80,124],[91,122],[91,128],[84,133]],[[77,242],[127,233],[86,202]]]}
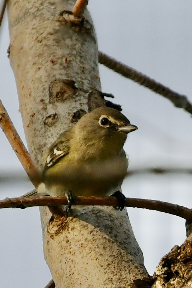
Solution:
{"label": "bird's folded dark wing with white bars", "polygon": [[69,154],[70,145],[68,131],[63,132],[59,138],[50,146],[46,158],[45,169],[53,166],[61,157]]}

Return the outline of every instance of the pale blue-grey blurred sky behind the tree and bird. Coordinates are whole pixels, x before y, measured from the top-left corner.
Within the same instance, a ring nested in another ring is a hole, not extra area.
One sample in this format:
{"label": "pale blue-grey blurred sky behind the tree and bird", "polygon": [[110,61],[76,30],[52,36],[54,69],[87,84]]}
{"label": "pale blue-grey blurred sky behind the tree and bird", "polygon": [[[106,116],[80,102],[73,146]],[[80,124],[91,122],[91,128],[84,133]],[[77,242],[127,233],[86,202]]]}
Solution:
{"label": "pale blue-grey blurred sky behind the tree and bird", "polygon": [[[1,2],[0,2],[1,3]],[[145,73],[192,102],[191,0],[90,1],[98,48]],[[0,29],[0,98],[25,141],[12,69],[7,58],[7,13]],[[100,65],[102,91],[138,130],[125,144],[135,170],[123,183],[127,197],[150,198],[191,207],[192,120],[183,109]],[[0,130],[0,198],[18,197],[33,189],[20,162]],[[144,168],[180,168],[181,173],[151,174]],[[145,209],[128,209],[149,274],[160,258],[186,238],[185,220]],[[42,249],[39,209],[0,210],[0,286],[44,287],[52,278]]]}

